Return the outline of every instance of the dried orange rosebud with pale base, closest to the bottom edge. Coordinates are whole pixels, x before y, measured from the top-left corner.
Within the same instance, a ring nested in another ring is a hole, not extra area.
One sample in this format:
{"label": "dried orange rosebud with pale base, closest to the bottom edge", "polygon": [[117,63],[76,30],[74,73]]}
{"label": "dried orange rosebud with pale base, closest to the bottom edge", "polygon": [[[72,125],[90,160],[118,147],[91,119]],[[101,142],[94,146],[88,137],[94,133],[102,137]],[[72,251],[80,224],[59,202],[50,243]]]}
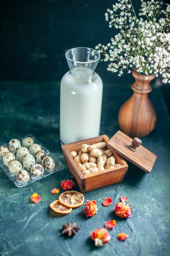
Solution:
{"label": "dried orange rosebud with pale base, closest to the bottom edge", "polygon": [[108,231],[104,228],[91,231],[91,239],[95,241],[95,246],[97,247],[103,246],[103,243],[108,243],[110,238]]}

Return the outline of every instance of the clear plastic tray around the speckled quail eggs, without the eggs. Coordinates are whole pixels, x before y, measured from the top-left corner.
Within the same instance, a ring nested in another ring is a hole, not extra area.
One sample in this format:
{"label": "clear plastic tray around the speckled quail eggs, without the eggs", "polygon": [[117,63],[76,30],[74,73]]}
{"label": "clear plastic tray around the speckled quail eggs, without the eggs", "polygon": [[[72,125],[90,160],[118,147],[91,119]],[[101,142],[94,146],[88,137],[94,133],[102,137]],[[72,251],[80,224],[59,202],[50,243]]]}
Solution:
{"label": "clear plastic tray around the speckled quail eggs, without the eggs", "polygon": [[[53,171],[51,170],[45,170],[44,169],[44,173],[43,175],[41,176],[35,176],[35,175],[31,175],[30,171],[28,171],[29,175],[30,175],[30,180],[27,181],[27,182],[19,182],[17,179],[16,179],[16,173],[11,173],[8,169],[8,166],[6,166],[4,163],[3,163],[3,160],[2,158],[0,157],[0,167],[2,168],[2,170],[7,174],[7,176],[13,181],[13,183],[18,187],[18,188],[21,188],[23,186],[26,186],[26,185],[29,185],[30,183],[33,183],[37,180],[41,180],[43,178],[45,178],[46,176],[49,176],[57,171],[60,171],[62,169],[64,169],[64,165],[53,155],[50,153],[50,151],[44,147],[42,145],[42,143],[40,143],[40,141],[38,141],[38,139],[36,139],[32,134],[29,134],[29,135],[26,135],[24,136],[23,138],[15,138],[15,139],[18,139],[20,142],[21,142],[21,145],[22,145],[22,139],[26,138],[26,137],[31,137],[33,140],[34,140],[34,143],[36,144],[39,144],[41,146],[41,149],[44,149],[44,151],[46,151],[46,153],[48,154],[49,157],[52,157],[55,161],[55,169]],[[8,147],[8,143],[2,143],[0,146],[7,146]],[[15,157],[16,157],[16,154],[14,154]],[[17,159],[16,159],[17,160]],[[36,160],[36,159],[35,159]],[[36,162],[37,163],[37,162]],[[22,164],[22,163],[21,163]],[[22,166],[23,167],[23,166]]]}

